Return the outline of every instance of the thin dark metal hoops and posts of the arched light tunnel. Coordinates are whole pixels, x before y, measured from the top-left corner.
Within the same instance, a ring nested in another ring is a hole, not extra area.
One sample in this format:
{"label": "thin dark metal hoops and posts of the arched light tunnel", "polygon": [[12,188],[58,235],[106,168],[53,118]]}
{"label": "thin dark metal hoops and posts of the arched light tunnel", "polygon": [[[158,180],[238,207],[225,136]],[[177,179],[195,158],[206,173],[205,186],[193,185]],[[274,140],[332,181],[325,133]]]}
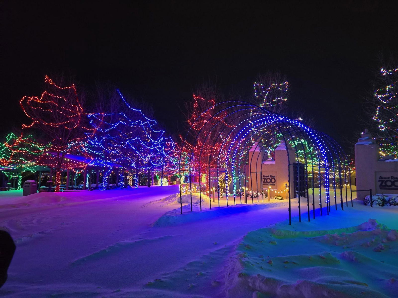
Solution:
{"label": "thin dark metal hoops and posts of the arched light tunnel", "polygon": [[[235,105],[232,103],[236,103]],[[232,104],[232,105],[231,105]],[[298,143],[295,142],[296,139],[298,139],[299,143],[301,144],[300,149],[302,150],[302,153],[304,154],[304,161],[305,161],[305,167],[306,167],[306,171],[308,172],[308,156],[307,153],[310,153],[309,156],[311,157],[311,165],[312,165],[312,172],[314,173],[314,157],[318,157],[318,161],[319,161],[319,166],[321,164],[321,160],[324,163],[324,167],[325,168],[325,189],[326,189],[326,203],[327,203],[327,210],[328,213],[330,211],[330,177],[329,177],[329,158],[332,161],[332,165],[333,165],[333,173],[335,173],[334,169],[335,169],[335,162],[334,162],[334,156],[336,156],[338,158],[338,169],[339,169],[339,175],[341,177],[341,160],[340,160],[340,156],[344,156],[344,161],[347,161],[347,158],[345,156],[345,153],[341,150],[341,147],[338,146],[337,142],[334,141],[332,138],[330,138],[330,136],[327,136],[326,134],[322,134],[320,132],[317,132],[316,130],[310,129],[309,127],[306,127],[305,125],[303,125],[302,123],[299,123],[298,121],[294,120],[294,119],[290,119],[288,117],[279,115],[277,113],[272,113],[270,111],[268,111],[267,109],[263,108],[263,107],[259,107],[257,105],[254,105],[252,103],[248,103],[246,101],[226,101],[226,102],[222,102],[222,103],[218,103],[216,105],[213,105],[212,107],[210,107],[209,109],[215,109],[216,107],[220,106],[220,105],[227,105],[226,107],[220,109],[220,111],[218,111],[217,113],[215,113],[214,115],[211,115],[211,117],[209,117],[207,119],[207,121],[205,121],[205,124],[202,126],[202,128],[199,130],[199,132],[197,132],[196,138],[195,138],[195,142],[193,146],[197,145],[198,142],[198,138],[202,133],[203,128],[206,126],[207,123],[209,123],[209,121],[211,121],[212,119],[214,119],[214,117],[216,117],[217,115],[219,115],[220,113],[224,112],[224,111],[228,111],[228,109],[232,109],[232,111],[230,113],[226,113],[226,115],[224,115],[223,119],[220,119],[219,121],[217,121],[216,124],[213,124],[211,129],[208,131],[207,135],[205,135],[205,140],[207,140],[207,138],[209,138],[209,136],[211,135],[211,133],[213,132],[213,129],[215,129],[215,127],[217,127],[221,122],[224,122],[225,119],[228,119],[231,115],[238,113],[239,115],[235,118],[232,118],[232,120],[230,120],[228,122],[228,124],[225,124],[224,127],[221,129],[221,131],[219,132],[219,134],[217,135],[217,138],[215,138],[215,140],[213,140],[213,144],[215,144],[217,141],[219,141],[219,138],[221,136],[221,134],[224,132],[224,130],[228,131],[227,128],[230,128],[230,131],[228,132],[226,138],[224,138],[221,141],[221,147],[220,148],[226,148],[226,144],[229,144],[228,147],[228,157],[231,157],[231,150],[235,145],[235,150],[234,150],[234,154],[232,154],[232,164],[230,164],[230,168],[231,168],[231,175],[232,175],[232,183],[233,183],[233,191],[234,191],[234,204],[236,205],[236,201],[235,201],[235,193],[236,193],[236,168],[238,168],[238,181],[239,181],[239,185],[241,185],[241,175],[239,173],[239,167],[241,166],[241,163],[236,162],[236,156],[237,156],[237,149],[238,146],[241,145],[242,141],[245,140],[247,134],[251,133],[254,130],[254,126],[253,126],[253,122],[250,122],[249,119],[256,117],[259,119],[256,119],[256,121],[254,121],[254,123],[259,122],[261,120],[264,120],[265,118],[270,118],[269,121],[265,121],[262,123],[257,123],[256,127],[258,127],[261,124],[260,129],[264,129],[264,127],[267,127],[267,125],[275,125],[277,127],[277,129],[273,130],[273,132],[275,131],[279,131],[279,133],[281,133],[281,136],[283,138],[283,142],[285,143],[286,148],[289,148],[289,141],[291,140],[291,142],[293,142],[293,145],[295,147],[295,155],[297,159],[297,163],[300,163],[300,156],[299,156],[299,150],[297,149]],[[229,105],[229,106],[228,106]],[[222,107],[222,106],[221,106]],[[237,107],[244,107],[244,108],[240,108],[237,110]],[[207,109],[206,111],[204,111],[199,117],[197,117],[197,119],[199,119],[204,113],[206,113],[209,109]],[[244,111],[246,111],[246,113],[244,113]],[[234,121],[236,121],[237,119],[246,116],[247,114],[251,114],[250,117],[244,118],[242,121],[240,121],[239,123],[236,123],[233,127],[230,127],[230,124],[233,123]],[[261,117],[263,117],[261,119]],[[272,121],[271,121],[272,119]],[[245,121],[248,121],[248,125],[246,125],[246,127],[244,126],[244,124],[242,125],[242,123],[244,123]],[[281,129],[281,127],[279,125],[283,124],[283,129]],[[243,127],[243,128],[242,128]],[[239,130],[240,129],[240,130]],[[237,136],[239,136],[240,134],[242,134],[243,131],[246,131],[246,133],[244,133],[244,135],[242,136],[242,138],[240,139],[239,142],[236,142],[236,138]],[[293,134],[292,134],[293,131]],[[233,133],[233,132],[238,132],[238,134],[235,136],[235,138],[233,140],[229,139],[229,136]],[[263,132],[263,134],[258,135],[256,134],[256,141],[259,141],[258,144],[256,145],[256,149],[259,146],[259,144],[261,143],[261,146],[265,145],[267,142],[271,141],[271,139],[273,138],[273,135],[270,136],[270,138],[267,138],[266,142],[264,142],[265,140],[265,135],[267,134],[267,132],[269,132],[269,130],[265,130],[265,132]],[[286,139],[286,132],[288,133],[288,135],[290,136],[290,138],[288,138],[288,140]],[[300,136],[301,134],[301,136]],[[303,143],[303,139],[305,141],[306,144]],[[254,140],[252,140],[252,142],[255,142]],[[250,143],[250,139],[246,138],[245,143]],[[330,147],[329,147],[329,146]],[[201,172],[201,163],[202,163],[202,153],[203,153],[203,147],[205,146],[205,142],[203,142],[201,150],[199,152],[199,156],[195,157],[197,158],[197,163],[198,163],[198,169],[192,169],[193,166],[193,150],[190,150],[190,154],[189,154],[189,172],[190,172],[190,179],[189,179],[189,183],[190,183],[190,188],[191,188],[191,183],[192,183],[192,179],[191,179],[191,170],[193,171],[197,171],[199,173],[199,186],[201,183],[201,177],[200,177],[200,172]],[[310,148],[316,148],[316,155],[314,156],[314,152],[313,150],[311,150]],[[329,150],[328,148],[333,148],[333,150]],[[216,164],[217,164],[217,173],[219,171],[219,166],[220,166],[220,154],[221,154],[221,150],[217,156],[217,158],[213,157],[213,149],[214,147],[211,148],[211,151],[209,153],[209,161],[207,163],[207,166],[209,168],[209,203],[210,203],[210,208],[211,208],[211,175],[210,175],[210,165],[212,163],[212,158],[216,159]],[[247,148],[246,148],[247,149]],[[245,150],[243,151],[245,152]],[[247,150],[247,153],[249,152],[249,150]],[[318,153],[319,152],[319,153]],[[328,154],[329,152],[329,154]],[[181,156],[179,158],[179,172],[180,172],[180,176],[181,176]],[[261,156],[261,155],[259,155]],[[257,157],[257,159],[259,158],[259,156]],[[265,155],[263,155],[263,158],[265,157]],[[241,157],[240,157],[241,158]],[[240,159],[239,158],[239,159]],[[289,160],[289,154],[288,154],[288,160]],[[253,156],[252,156],[253,159]],[[228,161],[230,161],[230,159],[228,160],[228,158],[225,158],[225,179],[226,181],[228,181]],[[252,160],[251,160],[252,162]],[[290,167],[291,167],[291,162],[290,160],[288,161],[289,165],[288,165],[288,169],[289,169],[289,222],[291,223],[291,205],[290,205],[290,201],[291,201],[291,181],[290,181]],[[237,163],[237,164],[236,164]],[[262,160],[261,160],[262,163]],[[258,162],[256,162],[256,173],[257,173],[257,165]],[[348,166],[348,164],[347,164]],[[345,167],[347,167],[345,166]],[[320,168],[319,168],[320,170]],[[261,169],[260,169],[260,173],[261,173]],[[345,175],[345,171],[344,171],[344,175]],[[256,174],[256,179],[257,179],[257,174]],[[326,179],[327,177],[327,179]],[[245,174],[245,186],[246,186],[246,174]],[[299,179],[299,178],[298,178]],[[347,192],[347,179],[346,177],[345,179],[345,186],[346,186],[346,192]],[[313,195],[313,205],[314,205],[314,175],[312,175],[312,195]],[[217,174],[217,183],[219,182],[219,175]],[[341,182],[342,179],[340,179],[340,186],[341,186]],[[308,208],[308,220],[310,220],[310,212],[309,212],[309,190],[308,190],[308,179],[306,179],[306,184],[307,184],[307,193],[306,193],[306,197],[307,197],[307,208]],[[258,185],[258,183],[256,183],[256,185]],[[335,185],[335,183],[334,183]],[[226,188],[229,187],[228,183],[226,183]],[[321,191],[321,184],[319,185],[320,187],[320,193]],[[351,183],[350,183],[350,187],[351,187]],[[240,187],[241,189],[241,187]],[[341,190],[341,187],[340,187]],[[228,204],[228,188],[226,189],[226,200],[227,200],[227,204]],[[245,190],[246,193],[246,190]],[[201,196],[201,192],[199,192],[200,196]],[[342,194],[342,192],[341,192]],[[182,196],[181,193],[181,189],[180,189],[180,198]],[[335,197],[336,197],[336,191],[335,191]],[[346,198],[347,198],[347,193],[346,193]],[[342,199],[342,198],[341,198]],[[352,197],[351,197],[352,200]],[[299,200],[300,201],[300,200]],[[321,214],[322,214],[322,199],[320,199],[321,201]],[[346,199],[347,201],[347,199]],[[201,203],[201,199],[200,199],[200,203]],[[241,200],[242,203],[242,200]],[[299,203],[300,204],[300,203]],[[182,200],[181,200],[181,213],[182,213]],[[299,217],[301,216],[301,210],[300,210],[300,205],[299,205]],[[337,209],[337,207],[336,207]],[[192,195],[191,195],[191,210],[192,210]],[[313,215],[315,218],[315,206],[313,206]]]}

